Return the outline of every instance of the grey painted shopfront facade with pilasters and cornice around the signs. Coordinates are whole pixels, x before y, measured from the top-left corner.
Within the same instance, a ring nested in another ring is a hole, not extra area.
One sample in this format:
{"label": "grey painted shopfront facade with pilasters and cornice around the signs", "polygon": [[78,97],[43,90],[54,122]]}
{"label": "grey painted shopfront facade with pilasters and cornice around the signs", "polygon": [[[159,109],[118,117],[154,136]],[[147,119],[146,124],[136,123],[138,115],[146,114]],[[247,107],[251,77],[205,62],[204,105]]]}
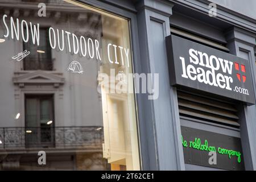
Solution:
{"label": "grey painted shopfront facade with pilasters and cornice around the signs", "polygon": [[[255,12],[251,13],[251,6],[248,6],[255,5],[255,2],[248,1],[246,6],[240,6],[240,3],[234,5],[230,1],[225,1],[224,4],[214,1],[218,3],[217,16],[209,18],[207,15],[210,1],[80,1],[129,18],[134,72],[159,73],[158,100],[147,100],[145,94],[137,94],[142,169],[185,170],[177,93],[170,86],[164,43],[165,37],[170,35],[170,23],[205,38],[226,43],[230,53],[248,59],[256,91]],[[196,12],[198,20],[195,15],[193,22],[197,23],[189,23],[188,16],[175,14],[174,10],[191,11],[192,14]],[[243,15],[245,12],[247,14]],[[206,18],[200,18],[201,15]],[[187,19],[187,22],[182,19]],[[240,136],[247,170],[256,169],[255,118],[255,105],[240,106]]]}

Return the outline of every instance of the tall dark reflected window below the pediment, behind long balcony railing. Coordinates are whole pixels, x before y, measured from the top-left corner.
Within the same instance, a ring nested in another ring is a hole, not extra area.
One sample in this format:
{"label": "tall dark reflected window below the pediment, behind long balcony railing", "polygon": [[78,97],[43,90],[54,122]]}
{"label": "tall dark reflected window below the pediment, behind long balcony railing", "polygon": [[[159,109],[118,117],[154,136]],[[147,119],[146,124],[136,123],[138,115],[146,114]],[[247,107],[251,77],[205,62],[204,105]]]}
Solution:
{"label": "tall dark reflected window below the pediment, behind long balcony railing", "polygon": [[27,147],[53,147],[53,96],[26,95],[25,121]]}

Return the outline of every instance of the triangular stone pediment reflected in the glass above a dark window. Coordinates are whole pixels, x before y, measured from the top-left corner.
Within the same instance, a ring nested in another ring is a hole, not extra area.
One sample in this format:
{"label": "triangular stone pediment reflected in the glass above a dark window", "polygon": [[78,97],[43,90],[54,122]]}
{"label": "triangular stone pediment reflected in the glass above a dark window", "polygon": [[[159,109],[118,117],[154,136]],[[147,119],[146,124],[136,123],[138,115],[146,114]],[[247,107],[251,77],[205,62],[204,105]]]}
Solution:
{"label": "triangular stone pediment reflected in the glass above a dark window", "polygon": [[34,72],[16,72],[14,73],[13,83],[19,87],[24,87],[26,84],[52,84],[55,88],[64,84],[64,77],[61,73],[50,73],[44,71]]}

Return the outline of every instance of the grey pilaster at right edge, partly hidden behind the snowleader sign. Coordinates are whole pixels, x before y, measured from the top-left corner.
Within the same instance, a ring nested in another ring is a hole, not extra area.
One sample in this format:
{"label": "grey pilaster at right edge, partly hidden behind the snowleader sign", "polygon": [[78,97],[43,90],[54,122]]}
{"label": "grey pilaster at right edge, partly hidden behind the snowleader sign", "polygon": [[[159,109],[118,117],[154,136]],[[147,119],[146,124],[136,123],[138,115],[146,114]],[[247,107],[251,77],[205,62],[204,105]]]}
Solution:
{"label": "grey pilaster at right edge, partly hidden behind the snowleader sign", "polygon": [[[234,27],[226,33],[230,53],[246,59],[250,62],[250,68],[246,68],[246,74],[253,77],[253,88],[256,96],[256,72],[254,47],[256,35]],[[246,170],[256,170],[256,106],[240,106],[240,135],[242,142],[243,158]]]}

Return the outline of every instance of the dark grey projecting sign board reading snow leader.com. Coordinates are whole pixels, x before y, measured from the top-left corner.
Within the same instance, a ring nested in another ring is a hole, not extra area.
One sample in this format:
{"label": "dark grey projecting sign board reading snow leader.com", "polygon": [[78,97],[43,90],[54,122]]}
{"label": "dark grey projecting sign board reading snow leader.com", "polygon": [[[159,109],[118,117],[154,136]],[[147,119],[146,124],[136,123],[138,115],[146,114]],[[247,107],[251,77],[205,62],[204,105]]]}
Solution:
{"label": "dark grey projecting sign board reading snow leader.com", "polygon": [[166,45],[172,86],[255,104],[248,60],[175,35],[166,37]]}

